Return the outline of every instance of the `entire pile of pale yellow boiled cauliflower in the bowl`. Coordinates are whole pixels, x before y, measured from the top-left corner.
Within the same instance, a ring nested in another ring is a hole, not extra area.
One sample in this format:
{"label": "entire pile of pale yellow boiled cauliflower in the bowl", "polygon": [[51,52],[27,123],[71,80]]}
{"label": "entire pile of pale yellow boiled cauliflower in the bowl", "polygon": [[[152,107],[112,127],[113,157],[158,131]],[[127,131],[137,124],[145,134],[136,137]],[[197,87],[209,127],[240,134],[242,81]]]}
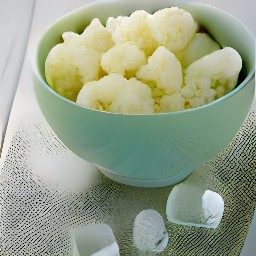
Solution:
{"label": "entire pile of pale yellow boiled cauliflower in the bowl", "polygon": [[208,104],[229,91],[239,54],[202,30],[178,7],[149,14],[94,18],[81,35],[65,32],[45,62],[48,84],[78,104],[102,111],[148,114]]}

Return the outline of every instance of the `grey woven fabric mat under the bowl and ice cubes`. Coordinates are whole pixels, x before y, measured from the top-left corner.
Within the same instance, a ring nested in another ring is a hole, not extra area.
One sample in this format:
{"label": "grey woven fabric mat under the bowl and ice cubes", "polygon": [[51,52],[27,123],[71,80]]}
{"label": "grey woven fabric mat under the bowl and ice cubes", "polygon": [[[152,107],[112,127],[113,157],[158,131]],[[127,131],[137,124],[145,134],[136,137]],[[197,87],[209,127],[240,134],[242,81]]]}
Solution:
{"label": "grey woven fabric mat under the bowl and ice cubes", "polygon": [[[157,189],[125,186],[95,169],[92,182],[73,189],[66,186],[64,173],[55,180],[41,175],[44,169],[47,173],[47,157],[54,163],[51,174],[58,166],[63,168],[63,163],[76,159],[45,123],[21,125],[12,138],[1,170],[2,256],[71,255],[70,230],[89,223],[110,225],[121,255],[139,255],[133,245],[132,229],[136,215],[144,209],[157,210],[165,220],[169,244],[159,255],[235,256],[242,250],[256,206],[255,102],[229,146],[184,181],[223,197],[224,215],[215,230],[167,221],[165,207],[173,186]],[[68,168],[72,169],[72,165],[63,169]],[[93,172],[93,167],[90,168]]]}

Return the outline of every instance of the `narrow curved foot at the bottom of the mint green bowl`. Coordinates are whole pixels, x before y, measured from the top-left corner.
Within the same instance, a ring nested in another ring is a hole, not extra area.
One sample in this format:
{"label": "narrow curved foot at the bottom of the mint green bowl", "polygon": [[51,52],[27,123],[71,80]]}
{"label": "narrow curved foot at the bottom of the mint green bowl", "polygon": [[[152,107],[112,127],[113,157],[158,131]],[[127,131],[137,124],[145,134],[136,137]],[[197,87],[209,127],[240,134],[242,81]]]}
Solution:
{"label": "narrow curved foot at the bottom of the mint green bowl", "polygon": [[133,186],[133,187],[144,187],[144,188],[160,188],[175,185],[186,179],[191,173],[181,173],[175,177],[169,177],[165,179],[133,179],[125,176],[118,175],[112,171],[96,165],[99,171],[108,177],[109,179],[121,183],[123,185]]}

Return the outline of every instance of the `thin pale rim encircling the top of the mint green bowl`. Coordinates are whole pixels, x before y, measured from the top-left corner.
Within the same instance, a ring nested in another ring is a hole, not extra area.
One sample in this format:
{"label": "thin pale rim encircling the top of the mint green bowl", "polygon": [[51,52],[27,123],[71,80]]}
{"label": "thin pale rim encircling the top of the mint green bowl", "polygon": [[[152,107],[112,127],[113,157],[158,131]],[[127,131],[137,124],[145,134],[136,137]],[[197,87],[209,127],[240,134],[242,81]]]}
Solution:
{"label": "thin pale rim encircling the top of the mint green bowl", "polygon": [[[136,0],[131,0],[136,2]],[[33,72],[33,75],[39,80],[40,85],[43,86],[50,94],[53,94],[55,97],[57,97],[59,100],[64,101],[65,103],[78,108],[78,109],[85,109],[87,111],[92,111],[92,112],[100,112],[100,113],[105,113],[108,115],[120,115],[120,116],[164,116],[164,115],[180,115],[180,114],[186,114],[186,113],[191,113],[191,112],[198,112],[199,110],[204,110],[204,109],[208,109],[208,108],[212,108],[213,106],[218,105],[221,102],[226,101],[227,99],[231,98],[232,96],[234,96],[236,93],[238,93],[239,91],[241,91],[246,84],[248,84],[250,82],[250,80],[252,80],[253,78],[255,78],[255,65],[254,65],[254,69],[252,69],[244,78],[244,80],[238,84],[233,90],[231,90],[230,92],[228,92],[227,94],[225,94],[224,96],[222,96],[221,98],[218,98],[208,104],[205,104],[203,106],[200,107],[196,107],[196,108],[191,108],[191,109],[185,109],[185,110],[179,110],[179,111],[174,111],[174,112],[161,112],[161,113],[152,113],[152,114],[124,114],[124,113],[113,113],[113,112],[108,112],[108,111],[102,111],[102,110],[97,110],[97,109],[91,109],[88,107],[84,107],[81,106],[79,104],[77,104],[76,102],[69,100],[67,98],[65,98],[64,96],[58,94],[57,92],[55,92],[46,82],[46,80],[43,78],[43,76],[41,75],[40,69],[39,69],[39,60],[38,60],[38,56],[39,56],[39,49],[41,46],[41,43],[44,39],[44,36],[46,35],[47,32],[50,31],[50,29],[52,29],[54,26],[56,26],[59,22],[61,22],[63,19],[72,16],[78,12],[83,12],[85,9],[91,7],[91,6],[101,6],[101,4],[114,4],[116,2],[120,2],[122,4],[125,5],[125,2],[122,2],[120,0],[99,0],[97,2],[91,2],[88,4],[85,4],[81,7],[75,8],[74,10],[61,15],[60,17],[58,17],[57,19],[55,19],[51,24],[49,24],[45,31],[42,33],[42,36],[39,38],[39,40],[36,42],[36,47],[35,50],[33,52],[33,61],[31,62],[31,70]],[[254,38],[252,32],[248,29],[248,27],[242,22],[240,21],[238,18],[236,18],[235,16],[233,16],[232,14],[217,8],[215,6],[212,5],[208,5],[208,4],[204,4],[204,3],[199,3],[199,2],[187,2],[187,1],[170,1],[170,7],[171,6],[178,6],[179,8],[183,8],[182,6],[185,4],[187,6],[205,6],[206,8],[218,11],[220,13],[223,13],[224,15],[228,15],[230,16],[232,19],[236,20],[238,23],[240,23],[240,25],[244,28],[244,30],[246,30],[246,32],[248,33],[248,35],[250,35],[251,38]]]}

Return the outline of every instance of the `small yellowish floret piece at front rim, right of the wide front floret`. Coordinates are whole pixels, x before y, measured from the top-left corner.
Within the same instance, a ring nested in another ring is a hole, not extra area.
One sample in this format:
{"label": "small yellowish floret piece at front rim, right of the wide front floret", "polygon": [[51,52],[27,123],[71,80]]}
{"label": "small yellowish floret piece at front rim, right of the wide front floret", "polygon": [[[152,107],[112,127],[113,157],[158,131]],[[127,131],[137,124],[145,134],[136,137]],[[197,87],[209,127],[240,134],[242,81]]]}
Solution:
{"label": "small yellowish floret piece at front rim, right of the wide front floret", "polygon": [[164,95],[160,99],[161,112],[181,111],[185,109],[185,99],[180,93]]}

